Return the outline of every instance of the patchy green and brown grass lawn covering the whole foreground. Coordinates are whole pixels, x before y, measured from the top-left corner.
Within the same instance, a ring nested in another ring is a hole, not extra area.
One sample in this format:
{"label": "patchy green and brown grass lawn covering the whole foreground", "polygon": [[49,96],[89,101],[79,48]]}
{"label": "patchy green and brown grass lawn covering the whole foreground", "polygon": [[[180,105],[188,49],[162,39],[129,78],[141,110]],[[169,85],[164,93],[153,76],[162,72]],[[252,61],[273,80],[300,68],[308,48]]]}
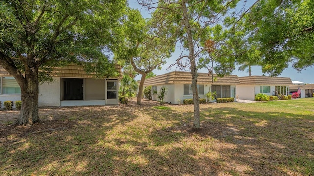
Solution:
{"label": "patchy green and brown grass lawn covering the whole foreground", "polygon": [[1,176],[313,176],[314,98],[0,111]]}

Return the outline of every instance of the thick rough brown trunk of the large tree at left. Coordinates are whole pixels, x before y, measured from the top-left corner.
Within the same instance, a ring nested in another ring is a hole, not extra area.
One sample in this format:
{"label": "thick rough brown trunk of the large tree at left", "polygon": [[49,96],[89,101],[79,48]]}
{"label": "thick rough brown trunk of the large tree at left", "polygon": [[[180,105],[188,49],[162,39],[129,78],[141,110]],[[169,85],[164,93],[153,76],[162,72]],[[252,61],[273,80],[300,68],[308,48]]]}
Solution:
{"label": "thick rough brown trunk of the large tree at left", "polygon": [[25,71],[25,81],[21,87],[21,111],[16,120],[17,125],[32,125],[40,122],[38,115],[38,68]]}

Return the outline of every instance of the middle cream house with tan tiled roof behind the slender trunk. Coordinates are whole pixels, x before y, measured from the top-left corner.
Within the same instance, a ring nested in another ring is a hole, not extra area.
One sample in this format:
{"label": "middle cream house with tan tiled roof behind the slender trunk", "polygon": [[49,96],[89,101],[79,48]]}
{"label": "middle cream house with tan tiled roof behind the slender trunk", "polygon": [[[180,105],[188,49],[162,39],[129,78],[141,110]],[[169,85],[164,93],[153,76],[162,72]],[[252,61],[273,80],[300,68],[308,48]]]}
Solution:
{"label": "middle cream house with tan tiled roof behind the slender trunk", "polygon": [[[217,77],[214,74],[214,77]],[[217,77],[212,83],[208,73],[198,73],[197,89],[201,99],[206,99],[208,92],[216,92],[216,98],[234,97],[236,101],[236,85],[239,79],[237,75]],[[152,92],[159,92],[162,86],[167,89],[164,101],[171,104],[182,104],[184,99],[192,99],[191,88],[192,75],[190,72],[173,71],[162,75],[148,78],[144,82],[144,87],[152,86]],[[152,95],[153,100],[158,100],[157,94]]]}

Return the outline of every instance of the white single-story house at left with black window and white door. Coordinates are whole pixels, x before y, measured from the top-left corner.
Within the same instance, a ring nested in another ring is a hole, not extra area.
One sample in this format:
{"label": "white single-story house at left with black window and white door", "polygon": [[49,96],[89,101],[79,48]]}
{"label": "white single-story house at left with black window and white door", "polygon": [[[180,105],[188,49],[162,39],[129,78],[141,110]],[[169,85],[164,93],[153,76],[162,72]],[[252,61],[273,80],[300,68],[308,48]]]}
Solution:
{"label": "white single-story house at left with black window and white door", "polygon": [[[121,67],[116,65],[121,72]],[[39,85],[38,105],[83,106],[118,104],[119,79],[96,79],[87,74],[83,66],[70,64],[56,67],[52,74],[54,81]],[[16,80],[0,66],[0,101],[21,100],[21,89]]]}

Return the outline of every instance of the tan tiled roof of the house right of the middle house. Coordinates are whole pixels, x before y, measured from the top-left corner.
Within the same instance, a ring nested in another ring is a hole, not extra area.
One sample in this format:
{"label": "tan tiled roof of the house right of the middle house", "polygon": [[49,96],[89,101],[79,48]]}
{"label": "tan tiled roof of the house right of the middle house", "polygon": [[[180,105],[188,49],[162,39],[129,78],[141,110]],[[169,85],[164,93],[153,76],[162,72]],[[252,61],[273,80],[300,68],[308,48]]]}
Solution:
{"label": "tan tiled roof of the house right of the middle house", "polygon": [[246,76],[239,80],[241,85],[292,85],[289,77]]}

